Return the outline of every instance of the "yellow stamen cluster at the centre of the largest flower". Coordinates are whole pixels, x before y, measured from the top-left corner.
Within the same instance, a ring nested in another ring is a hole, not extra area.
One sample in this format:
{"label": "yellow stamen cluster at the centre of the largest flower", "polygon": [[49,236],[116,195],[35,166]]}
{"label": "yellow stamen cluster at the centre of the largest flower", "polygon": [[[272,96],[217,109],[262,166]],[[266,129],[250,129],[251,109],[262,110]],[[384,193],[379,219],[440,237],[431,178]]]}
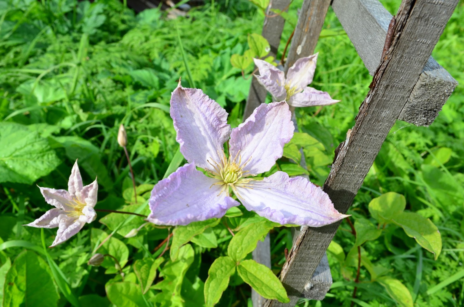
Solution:
{"label": "yellow stamen cluster at the centre of the largest flower", "polygon": [[218,155],[221,158],[219,163],[216,161],[208,160],[208,163],[213,166],[213,170],[206,169],[206,171],[210,174],[211,177],[219,180],[219,182],[213,185],[222,185],[222,189],[221,192],[219,192],[219,195],[224,191],[226,191],[227,195],[229,195],[229,186],[232,188],[233,192],[237,194],[235,186],[247,187],[246,184],[249,183],[250,180],[253,180],[251,178],[245,178],[247,176],[253,175],[250,174],[249,171],[244,171],[244,167],[251,160],[251,157],[242,165],[242,158],[238,155],[238,153],[235,155],[233,160],[231,157],[228,159],[226,158],[224,150],[222,150],[222,152],[218,151]]}

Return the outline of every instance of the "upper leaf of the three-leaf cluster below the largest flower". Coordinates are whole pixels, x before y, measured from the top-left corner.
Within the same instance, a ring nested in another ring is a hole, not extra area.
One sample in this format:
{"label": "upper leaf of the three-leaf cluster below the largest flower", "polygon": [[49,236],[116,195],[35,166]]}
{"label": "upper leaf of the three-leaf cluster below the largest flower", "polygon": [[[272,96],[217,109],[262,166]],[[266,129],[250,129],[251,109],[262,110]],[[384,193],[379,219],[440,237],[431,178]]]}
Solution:
{"label": "upper leaf of the three-leaf cluster below the largest flower", "polygon": [[227,254],[236,262],[242,260],[256,248],[258,240],[261,240],[269,230],[277,225],[279,224],[264,221],[246,226],[232,237],[227,247]]}

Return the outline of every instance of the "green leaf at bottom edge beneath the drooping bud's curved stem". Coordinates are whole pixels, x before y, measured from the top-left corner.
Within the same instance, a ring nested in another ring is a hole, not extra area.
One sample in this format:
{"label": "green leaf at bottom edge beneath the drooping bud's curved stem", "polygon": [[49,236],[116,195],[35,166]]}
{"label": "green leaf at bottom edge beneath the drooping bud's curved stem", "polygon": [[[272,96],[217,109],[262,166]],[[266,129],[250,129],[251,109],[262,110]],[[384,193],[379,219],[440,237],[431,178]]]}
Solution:
{"label": "green leaf at bottom edge beneath the drooping bud's curved stem", "polygon": [[108,299],[116,307],[143,307],[147,306],[140,287],[132,282],[115,282],[105,285]]}

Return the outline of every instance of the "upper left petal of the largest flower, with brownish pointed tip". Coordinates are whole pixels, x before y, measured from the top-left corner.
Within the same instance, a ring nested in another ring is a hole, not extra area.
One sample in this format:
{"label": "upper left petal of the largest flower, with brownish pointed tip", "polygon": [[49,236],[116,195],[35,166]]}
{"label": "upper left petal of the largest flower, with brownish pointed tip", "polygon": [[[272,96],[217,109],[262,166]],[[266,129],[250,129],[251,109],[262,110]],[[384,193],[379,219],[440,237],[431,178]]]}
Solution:
{"label": "upper left petal of the largest flower, with brownish pointed tip", "polygon": [[231,133],[227,112],[202,90],[179,85],[171,95],[171,117],[180,152],[189,163],[210,168],[207,160],[219,162],[223,144]]}

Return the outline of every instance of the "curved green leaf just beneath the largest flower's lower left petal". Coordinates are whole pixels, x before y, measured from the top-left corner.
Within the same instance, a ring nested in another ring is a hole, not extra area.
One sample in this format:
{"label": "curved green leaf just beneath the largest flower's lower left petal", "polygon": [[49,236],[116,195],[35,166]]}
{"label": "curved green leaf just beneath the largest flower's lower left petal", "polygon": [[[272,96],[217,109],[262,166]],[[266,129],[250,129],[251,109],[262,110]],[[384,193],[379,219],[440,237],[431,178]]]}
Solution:
{"label": "curved green leaf just beneath the largest flower's lower left petal", "polygon": [[193,222],[187,226],[177,226],[173,230],[173,241],[171,243],[171,248],[169,251],[169,256],[171,260],[174,261],[177,259],[179,254],[179,249],[182,245],[190,242],[193,237],[199,235],[206,228],[214,227],[219,224],[219,218],[210,218],[206,221]]}

